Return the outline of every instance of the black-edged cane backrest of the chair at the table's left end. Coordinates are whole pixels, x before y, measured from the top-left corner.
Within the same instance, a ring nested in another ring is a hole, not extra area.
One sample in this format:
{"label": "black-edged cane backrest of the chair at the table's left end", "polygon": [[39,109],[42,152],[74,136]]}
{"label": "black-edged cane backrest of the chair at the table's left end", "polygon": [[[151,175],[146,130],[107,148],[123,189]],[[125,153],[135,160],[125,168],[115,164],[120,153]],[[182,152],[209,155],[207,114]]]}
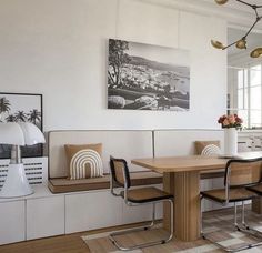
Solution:
{"label": "black-edged cane backrest of the chair at the table's left end", "polygon": [[131,186],[128,163],[124,159],[114,159],[110,156],[110,170],[113,183],[120,186]]}

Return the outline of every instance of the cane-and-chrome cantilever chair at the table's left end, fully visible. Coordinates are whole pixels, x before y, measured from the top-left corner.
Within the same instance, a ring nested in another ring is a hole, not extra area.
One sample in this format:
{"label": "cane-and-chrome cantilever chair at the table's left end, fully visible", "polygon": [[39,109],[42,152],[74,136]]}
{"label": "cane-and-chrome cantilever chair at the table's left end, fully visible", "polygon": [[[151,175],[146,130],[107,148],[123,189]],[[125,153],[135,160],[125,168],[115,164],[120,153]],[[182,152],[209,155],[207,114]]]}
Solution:
{"label": "cane-and-chrome cantilever chair at the table's left end, fully visible", "polygon": [[[123,198],[124,202],[129,206],[138,206],[141,204],[152,204],[152,221],[150,225],[140,226],[135,229],[129,229],[115,233],[111,233],[109,239],[111,242],[122,251],[130,251],[135,249],[142,249],[147,246],[152,246],[157,244],[164,244],[169,242],[173,237],[173,195],[161,191],[157,188],[149,186],[149,188],[139,188],[139,189],[131,189],[131,180],[129,168],[127,161],[123,159],[114,159],[110,156],[110,169],[111,169],[111,180],[110,180],[110,189],[111,193],[114,196]],[[115,192],[115,188],[122,188],[119,193]],[[170,203],[170,234],[165,239],[161,239],[154,242],[143,243],[139,245],[133,245],[127,247],[124,245],[120,245],[120,243],[115,240],[115,236],[128,234],[134,231],[143,231],[152,229],[154,225],[155,220],[155,204],[159,202],[169,202]]]}

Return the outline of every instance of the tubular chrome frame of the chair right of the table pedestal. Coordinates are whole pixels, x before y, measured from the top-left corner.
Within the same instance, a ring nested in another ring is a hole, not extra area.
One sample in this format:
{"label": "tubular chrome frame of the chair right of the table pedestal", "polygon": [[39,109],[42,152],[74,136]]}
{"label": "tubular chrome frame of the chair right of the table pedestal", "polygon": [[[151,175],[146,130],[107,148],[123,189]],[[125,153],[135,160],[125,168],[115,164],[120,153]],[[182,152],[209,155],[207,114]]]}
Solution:
{"label": "tubular chrome frame of the chair right of the table pedestal", "polygon": [[[229,160],[226,165],[225,165],[225,178],[224,178],[224,189],[225,189],[225,202],[221,203],[223,206],[226,206],[229,203],[230,203],[230,174],[231,174],[231,169],[230,169],[230,165],[231,163],[252,163],[252,162],[259,162],[259,161],[262,161],[262,158],[256,158],[256,159],[246,159],[246,160],[242,160],[242,159],[232,159],[232,160]],[[240,185],[241,186],[241,185]],[[245,186],[245,185],[243,185]],[[203,199],[203,195],[200,196],[201,198],[201,201]],[[208,198],[206,198],[208,199]],[[219,201],[214,201],[212,199],[208,199],[209,201],[213,201],[215,203],[219,203]],[[242,212],[241,212],[241,225],[238,223],[238,205],[236,203],[240,202],[241,205],[242,205]],[[248,235],[251,235],[255,239],[261,239],[262,236],[262,233],[250,227],[246,223],[245,223],[245,209],[244,209],[244,203],[245,200],[241,200],[241,201],[234,201],[234,227],[240,231],[240,232],[243,232]],[[252,243],[252,244],[248,244],[248,245],[244,245],[244,246],[240,246],[240,247],[236,247],[236,249],[230,249],[230,247],[225,247],[223,246],[222,244],[211,240],[209,237],[209,233],[205,234],[203,233],[203,220],[202,220],[202,211],[201,211],[201,235],[203,239],[210,241],[211,243],[213,243],[214,245],[216,245],[218,247],[224,250],[225,252],[238,252],[238,251],[243,251],[243,250],[248,250],[248,249],[251,249],[251,247],[254,247],[254,246],[260,246],[262,245],[262,241],[260,242],[256,242],[256,243]]]}

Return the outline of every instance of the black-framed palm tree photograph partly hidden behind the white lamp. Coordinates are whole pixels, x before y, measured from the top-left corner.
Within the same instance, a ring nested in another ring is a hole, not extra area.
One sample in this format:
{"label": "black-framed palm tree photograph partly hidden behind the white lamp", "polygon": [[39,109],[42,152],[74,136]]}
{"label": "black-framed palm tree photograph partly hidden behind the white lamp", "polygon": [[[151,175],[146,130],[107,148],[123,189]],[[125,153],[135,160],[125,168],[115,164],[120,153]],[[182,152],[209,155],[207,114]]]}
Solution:
{"label": "black-framed palm tree photograph partly hidden behind the white lamp", "polygon": [[[31,122],[42,131],[42,95],[0,92],[0,122]],[[21,146],[22,158],[42,155],[42,144]],[[0,159],[9,159],[11,145],[0,144]]]}

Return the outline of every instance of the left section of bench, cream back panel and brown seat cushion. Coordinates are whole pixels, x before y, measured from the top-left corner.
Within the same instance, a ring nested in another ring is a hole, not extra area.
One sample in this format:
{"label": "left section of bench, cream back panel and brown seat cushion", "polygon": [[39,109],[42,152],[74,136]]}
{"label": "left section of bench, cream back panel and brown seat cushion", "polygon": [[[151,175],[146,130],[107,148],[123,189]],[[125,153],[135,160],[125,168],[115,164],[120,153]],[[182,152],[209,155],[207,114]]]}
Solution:
{"label": "left section of bench, cream back panel and brown seat cushion", "polygon": [[[64,144],[102,143],[104,176],[83,180],[68,180],[69,168]],[[52,131],[49,133],[49,189],[52,193],[109,189],[110,155],[133,158],[153,155],[152,131]],[[132,185],[161,184],[162,175],[129,164]]]}

